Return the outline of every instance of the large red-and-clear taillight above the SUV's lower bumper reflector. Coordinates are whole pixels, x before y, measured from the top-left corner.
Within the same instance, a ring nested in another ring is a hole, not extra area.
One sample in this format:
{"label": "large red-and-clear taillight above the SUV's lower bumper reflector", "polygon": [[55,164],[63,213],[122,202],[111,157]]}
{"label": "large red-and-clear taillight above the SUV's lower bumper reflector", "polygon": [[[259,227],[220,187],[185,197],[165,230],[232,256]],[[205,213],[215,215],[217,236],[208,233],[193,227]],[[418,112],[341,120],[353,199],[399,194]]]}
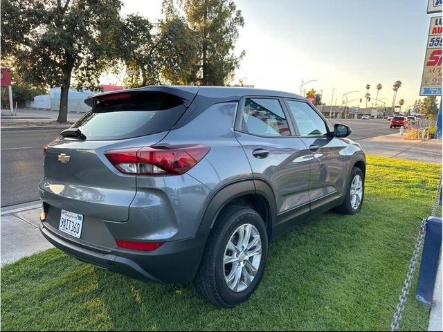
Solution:
{"label": "large red-and-clear taillight above the SUV's lower bumper reflector", "polygon": [[197,165],[209,150],[206,145],[136,147],[106,151],[105,156],[124,174],[181,175]]}

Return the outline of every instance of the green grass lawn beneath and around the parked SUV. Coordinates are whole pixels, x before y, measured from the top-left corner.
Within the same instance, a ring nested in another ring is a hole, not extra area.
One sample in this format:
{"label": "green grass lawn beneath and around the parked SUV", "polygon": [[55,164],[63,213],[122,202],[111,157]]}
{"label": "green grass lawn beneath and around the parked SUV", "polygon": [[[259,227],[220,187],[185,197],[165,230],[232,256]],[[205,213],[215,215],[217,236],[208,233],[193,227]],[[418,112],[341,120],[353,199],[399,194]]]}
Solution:
{"label": "green grass lawn beneath and around the parked SUV", "polygon": [[[271,243],[262,284],[237,308],[208,304],[190,284],[140,282],[53,249],[1,268],[1,329],[389,330],[440,169],[368,156],[361,212],[328,212]],[[401,329],[425,331],[428,310],[414,284]]]}

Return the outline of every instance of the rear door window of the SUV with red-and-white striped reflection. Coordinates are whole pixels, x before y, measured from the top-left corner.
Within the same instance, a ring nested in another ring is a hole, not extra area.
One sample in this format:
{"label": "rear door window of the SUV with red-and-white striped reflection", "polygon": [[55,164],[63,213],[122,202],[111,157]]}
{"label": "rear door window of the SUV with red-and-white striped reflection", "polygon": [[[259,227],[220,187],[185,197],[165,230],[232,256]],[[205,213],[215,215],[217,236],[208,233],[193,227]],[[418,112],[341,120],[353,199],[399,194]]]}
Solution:
{"label": "rear door window of the SUV with red-and-white striped reflection", "polygon": [[289,136],[289,126],[276,99],[246,98],[242,129],[263,136]]}

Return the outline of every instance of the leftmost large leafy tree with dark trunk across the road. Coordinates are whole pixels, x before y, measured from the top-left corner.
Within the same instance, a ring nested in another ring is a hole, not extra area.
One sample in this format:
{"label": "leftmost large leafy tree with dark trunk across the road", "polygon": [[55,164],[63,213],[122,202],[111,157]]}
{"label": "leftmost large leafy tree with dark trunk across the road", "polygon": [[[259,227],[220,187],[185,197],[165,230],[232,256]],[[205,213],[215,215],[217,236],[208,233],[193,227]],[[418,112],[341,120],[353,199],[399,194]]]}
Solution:
{"label": "leftmost large leafy tree with dark trunk across the road", "polygon": [[120,1],[1,0],[1,7],[2,60],[12,59],[23,82],[60,87],[57,121],[66,122],[71,83],[98,91],[113,65]]}

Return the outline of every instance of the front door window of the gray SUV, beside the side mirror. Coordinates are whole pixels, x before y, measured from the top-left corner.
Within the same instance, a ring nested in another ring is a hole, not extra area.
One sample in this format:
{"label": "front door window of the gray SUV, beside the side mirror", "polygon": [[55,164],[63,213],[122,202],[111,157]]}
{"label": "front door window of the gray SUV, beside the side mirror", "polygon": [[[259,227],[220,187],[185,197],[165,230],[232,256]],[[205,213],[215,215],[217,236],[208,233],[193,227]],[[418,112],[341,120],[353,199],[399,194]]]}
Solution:
{"label": "front door window of the gray SUV, beside the side mirror", "polygon": [[325,121],[306,102],[287,100],[300,136],[325,136],[327,129]]}

